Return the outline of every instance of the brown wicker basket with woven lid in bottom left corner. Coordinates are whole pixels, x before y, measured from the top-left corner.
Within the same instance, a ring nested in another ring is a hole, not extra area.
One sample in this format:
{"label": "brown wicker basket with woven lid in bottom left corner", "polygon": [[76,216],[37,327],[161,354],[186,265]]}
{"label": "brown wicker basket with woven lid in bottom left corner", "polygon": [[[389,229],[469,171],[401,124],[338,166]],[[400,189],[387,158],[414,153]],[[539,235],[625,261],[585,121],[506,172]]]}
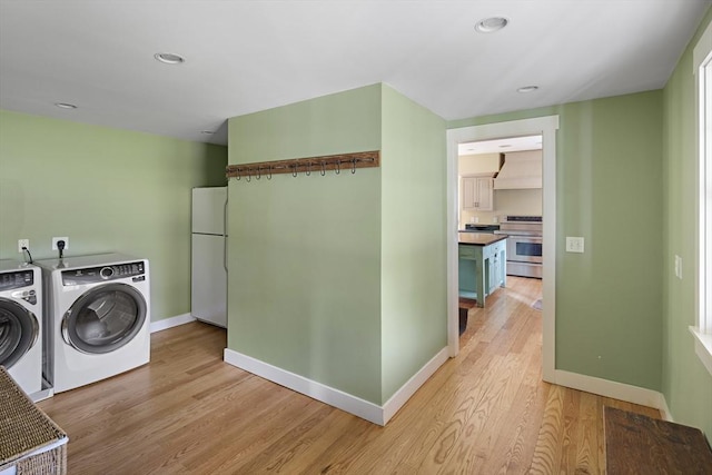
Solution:
{"label": "brown wicker basket with woven lid in bottom left corner", "polygon": [[0,366],[0,474],[66,474],[68,441]]}

